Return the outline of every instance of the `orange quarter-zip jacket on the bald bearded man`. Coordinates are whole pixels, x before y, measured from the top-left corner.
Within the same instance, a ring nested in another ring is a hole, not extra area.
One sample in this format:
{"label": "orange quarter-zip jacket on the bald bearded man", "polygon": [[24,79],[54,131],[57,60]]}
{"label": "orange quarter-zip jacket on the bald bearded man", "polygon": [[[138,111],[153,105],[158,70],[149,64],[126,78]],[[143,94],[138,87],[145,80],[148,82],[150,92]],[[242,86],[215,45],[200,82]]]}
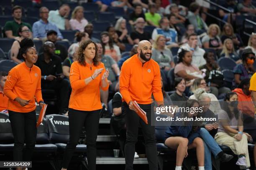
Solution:
{"label": "orange quarter-zip jacket on the bald bearded man", "polygon": [[151,104],[151,95],[158,104],[163,104],[160,67],[154,60],[142,63],[138,54],[126,60],[120,72],[120,93],[123,101],[136,100],[140,104]]}

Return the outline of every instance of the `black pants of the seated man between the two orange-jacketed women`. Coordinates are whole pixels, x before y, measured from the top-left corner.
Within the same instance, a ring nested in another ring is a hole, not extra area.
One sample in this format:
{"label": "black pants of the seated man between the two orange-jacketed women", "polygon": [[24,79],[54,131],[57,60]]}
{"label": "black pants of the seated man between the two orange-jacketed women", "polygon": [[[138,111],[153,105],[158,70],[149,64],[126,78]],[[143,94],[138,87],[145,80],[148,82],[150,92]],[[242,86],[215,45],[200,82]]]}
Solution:
{"label": "black pants of the seated man between the two orange-jacketed women", "polygon": [[60,98],[59,112],[63,113],[69,104],[69,80],[42,81],[42,89],[54,90]]}

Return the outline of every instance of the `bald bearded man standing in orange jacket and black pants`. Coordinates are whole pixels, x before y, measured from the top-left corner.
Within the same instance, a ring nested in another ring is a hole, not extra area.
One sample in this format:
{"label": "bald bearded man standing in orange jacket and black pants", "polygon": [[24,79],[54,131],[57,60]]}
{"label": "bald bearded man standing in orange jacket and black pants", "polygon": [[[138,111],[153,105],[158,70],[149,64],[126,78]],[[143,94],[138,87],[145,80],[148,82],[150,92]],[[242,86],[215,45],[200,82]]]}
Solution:
{"label": "bald bearded man standing in orange jacket and black pants", "polygon": [[[138,54],[126,60],[120,72],[120,93],[123,96],[122,112],[125,113],[126,143],[125,170],[133,170],[135,144],[138,140],[138,127],[141,126],[146,143],[146,155],[149,170],[157,170],[157,151],[155,127],[151,126],[151,115],[154,114],[154,95],[158,106],[163,105],[161,90],[161,73],[157,62],[151,60],[152,45],[147,40],[138,43]],[[146,124],[134,111],[132,102],[146,112]],[[152,115],[153,117],[154,115]]]}

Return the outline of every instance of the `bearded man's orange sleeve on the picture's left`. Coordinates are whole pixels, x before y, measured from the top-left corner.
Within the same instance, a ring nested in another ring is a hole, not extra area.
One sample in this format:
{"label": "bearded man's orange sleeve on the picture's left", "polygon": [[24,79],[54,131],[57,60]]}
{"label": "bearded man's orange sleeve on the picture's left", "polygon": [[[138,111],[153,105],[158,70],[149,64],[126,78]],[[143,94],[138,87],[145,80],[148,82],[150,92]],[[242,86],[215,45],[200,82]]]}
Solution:
{"label": "bearded man's orange sleeve on the picture's left", "polygon": [[122,94],[125,102],[129,104],[129,102],[132,100],[131,94],[129,92],[131,73],[130,73],[130,68],[126,63],[127,62],[124,62],[121,67],[119,80],[120,80],[120,93]]}

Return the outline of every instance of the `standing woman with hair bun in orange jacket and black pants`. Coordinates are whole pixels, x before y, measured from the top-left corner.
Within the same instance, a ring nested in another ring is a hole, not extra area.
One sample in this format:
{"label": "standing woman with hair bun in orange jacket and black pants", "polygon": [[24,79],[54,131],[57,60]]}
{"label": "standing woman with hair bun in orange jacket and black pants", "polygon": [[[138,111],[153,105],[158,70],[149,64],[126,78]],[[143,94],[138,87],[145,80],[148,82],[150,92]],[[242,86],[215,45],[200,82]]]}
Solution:
{"label": "standing woman with hair bun in orange jacket and black pants", "polygon": [[[4,94],[9,98],[8,112],[14,136],[13,159],[30,161],[37,133],[35,98],[41,107],[44,104],[41,93],[41,70],[34,65],[37,52],[31,39],[21,40],[19,55],[24,58],[24,62],[13,67],[8,73]],[[24,141],[26,148],[23,150]]]}

